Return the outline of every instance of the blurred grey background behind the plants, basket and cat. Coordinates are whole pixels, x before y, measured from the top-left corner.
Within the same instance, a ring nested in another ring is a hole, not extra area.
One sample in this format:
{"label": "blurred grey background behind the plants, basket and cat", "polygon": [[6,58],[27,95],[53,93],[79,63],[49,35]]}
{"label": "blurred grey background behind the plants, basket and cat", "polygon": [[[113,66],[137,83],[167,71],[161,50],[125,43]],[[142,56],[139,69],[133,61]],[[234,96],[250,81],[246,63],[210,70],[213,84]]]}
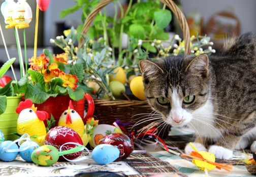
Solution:
{"label": "blurred grey background behind the plants, basket and cat", "polygon": [[[2,2],[3,0],[1,3]],[[31,6],[34,15],[36,11],[36,1],[27,0],[27,2]],[[216,49],[222,46],[223,38],[227,36],[233,34],[239,35],[245,32],[256,33],[255,0],[176,0],[175,3],[182,9],[187,18],[190,34],[197,35],[197,32],[200,32],[201,35],[207,34],[211,37],[211,40],[214,41],[214,48]],[[55,52],[55,49],[49,42],[50,38],[62,35],[63,30],[69,29],[71,26],[77,27],[81,24],[82,10],[60,18],[60,12],[62,10],[73,7],[75,4],[73,0],[51,0],[48,10],[46,12],[40,12],[38,54],[42,53],[44,48],[49,48]],[[127,1],[121,0],[121,4],[125,8]],[[106,11],[109,16],[113,16],[113,5],[108,5]],[[0,22],[10,56],[17,58],[14,29],[5,29],[4,17],[2,15],[0,16]],[[166,28],[166,32],[170,32],[170,34],[181,34],[179,25],[175,19],[172,20],[171,24]],[[28,58],[33,56],[34,33],[35,16],[30,23],[30,27],[26,28]],[[22,30],[20,30],[20,39],[22,44]],[[7,60],[2,38],[0,38],[0,54],[1,66]],[[16,65],[18,66],[18,60],[15,62],[15,67],[17,67]]]}

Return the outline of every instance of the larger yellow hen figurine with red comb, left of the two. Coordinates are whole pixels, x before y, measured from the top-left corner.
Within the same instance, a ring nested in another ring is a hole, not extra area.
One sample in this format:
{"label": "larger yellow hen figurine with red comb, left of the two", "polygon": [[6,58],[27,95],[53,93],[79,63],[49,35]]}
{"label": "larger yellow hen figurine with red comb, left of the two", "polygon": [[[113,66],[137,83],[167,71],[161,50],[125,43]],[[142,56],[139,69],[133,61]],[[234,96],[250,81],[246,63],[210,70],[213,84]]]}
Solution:
{"label": "larger yellow hen figurine with red comb, left of the two", "polygon": [[20,135],[27,133],[40,146],[44,145],[46,135],[44,120],[48,118],[48,113],[37,111],[37,108],[29,99],[20,102],[16,112],[19,114],[17,133]]}

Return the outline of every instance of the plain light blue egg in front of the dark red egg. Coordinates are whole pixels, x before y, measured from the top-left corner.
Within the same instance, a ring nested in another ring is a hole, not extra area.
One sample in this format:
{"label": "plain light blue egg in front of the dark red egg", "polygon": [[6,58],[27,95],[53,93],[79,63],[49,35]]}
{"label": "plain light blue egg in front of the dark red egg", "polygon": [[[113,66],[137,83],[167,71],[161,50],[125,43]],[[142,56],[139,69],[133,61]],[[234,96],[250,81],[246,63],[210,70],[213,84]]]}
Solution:
{"label": "plain light blue egg in front of the dark red egg", "polygon": [[102,144],[93,149],[91,158],[98,164],[106,165],[107,163],[115,161],[119,157],[119,153],[120,152],[117,147]]}

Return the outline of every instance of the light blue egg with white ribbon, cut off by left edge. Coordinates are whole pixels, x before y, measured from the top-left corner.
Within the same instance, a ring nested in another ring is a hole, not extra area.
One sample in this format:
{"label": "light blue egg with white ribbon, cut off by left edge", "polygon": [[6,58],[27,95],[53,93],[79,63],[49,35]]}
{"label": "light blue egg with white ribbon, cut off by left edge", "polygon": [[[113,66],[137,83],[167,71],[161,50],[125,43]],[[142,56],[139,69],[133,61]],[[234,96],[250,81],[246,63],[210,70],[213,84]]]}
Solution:
{"label": "light blue egg with white ribbon, cut off by left edge", "polygon": [[[6,147],[12,143],[12,141],[5,141],[0,144],[0,160],[10,162],[16,159],[18,152],[6,152]],[[19,149],[18,145],[13,144],[9,149]]]}

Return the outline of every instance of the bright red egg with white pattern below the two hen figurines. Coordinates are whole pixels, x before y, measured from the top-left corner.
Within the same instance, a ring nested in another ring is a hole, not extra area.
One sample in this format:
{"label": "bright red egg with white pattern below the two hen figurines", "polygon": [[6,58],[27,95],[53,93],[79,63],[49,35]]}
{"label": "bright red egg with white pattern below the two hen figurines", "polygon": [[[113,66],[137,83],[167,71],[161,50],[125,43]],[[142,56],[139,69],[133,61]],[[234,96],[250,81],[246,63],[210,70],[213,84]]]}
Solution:
{"label": "bright red egg with white pattern below the two hen figurines", "polygon": [[[50,129],[45,136],[45,145],[52,145],[58,150],[60,146],[65,143],[72,142],[83,145],[83,141],[75,130],[67,126],[55,126]],[[76,145],[67,144],[62,147],[61,151],[69,150],[76,147]],[[73,160],[79,157],[82,154],[82,151],[72,154],[64,155],[67,159]],[[65,160],[62,156],[59,157],[59,160]]]}

